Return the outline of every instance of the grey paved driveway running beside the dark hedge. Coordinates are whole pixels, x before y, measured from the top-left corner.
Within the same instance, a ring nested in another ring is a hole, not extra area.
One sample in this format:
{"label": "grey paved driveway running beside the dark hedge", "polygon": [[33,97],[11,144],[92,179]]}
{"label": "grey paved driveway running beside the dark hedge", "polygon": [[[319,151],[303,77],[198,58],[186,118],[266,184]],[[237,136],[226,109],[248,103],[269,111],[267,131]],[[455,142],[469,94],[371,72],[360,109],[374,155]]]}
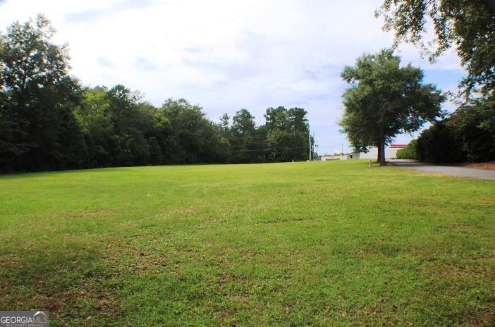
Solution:
{"label": "grey paved driveway running beside the dark hedge", "polygon": [[429,163],[421,163],[414,160],[391,160],[394,166],[401,166],[412,169],[413,171],[425,171],[427,173],[441,173],[444,175],[453,175],[459,177],[479,178],[482,180],[495,180],[495,171],[487,169],[464,168],[455,166],[437,166]]}

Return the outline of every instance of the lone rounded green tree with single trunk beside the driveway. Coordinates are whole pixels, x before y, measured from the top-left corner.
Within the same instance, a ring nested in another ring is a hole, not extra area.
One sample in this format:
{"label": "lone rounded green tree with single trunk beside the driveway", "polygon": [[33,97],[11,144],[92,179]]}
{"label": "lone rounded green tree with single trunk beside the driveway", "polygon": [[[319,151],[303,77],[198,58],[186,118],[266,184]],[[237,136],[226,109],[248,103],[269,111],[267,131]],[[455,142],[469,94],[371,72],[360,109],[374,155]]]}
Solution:
{"label": "lone rounded green tree with single trunk beside the driveway", "polygon": [[400,63],[392,50],[385,49],[357,58],[355,66],[347,66],[341,74],[350,83],[343,94],[341,128],[357,152],[378,147],[381,164],[384,147],[393,137],[435,121],[445,101],[433,85],[422,84],[420,68]]}

